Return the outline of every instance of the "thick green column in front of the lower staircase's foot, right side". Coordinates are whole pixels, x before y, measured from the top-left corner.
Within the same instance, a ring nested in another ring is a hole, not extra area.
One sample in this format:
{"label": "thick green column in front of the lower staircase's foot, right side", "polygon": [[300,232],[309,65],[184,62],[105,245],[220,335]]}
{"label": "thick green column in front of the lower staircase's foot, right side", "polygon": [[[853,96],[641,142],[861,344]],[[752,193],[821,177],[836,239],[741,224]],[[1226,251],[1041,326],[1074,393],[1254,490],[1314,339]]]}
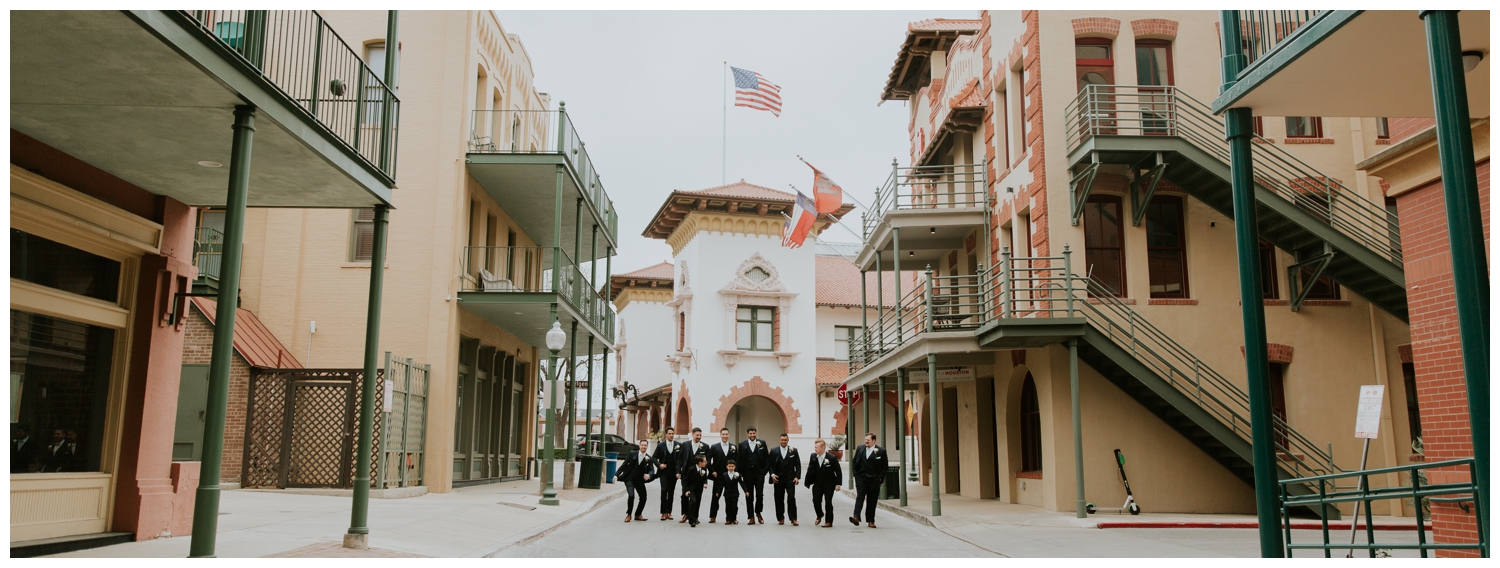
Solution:
{"label": "thick green column in front of the lower staircase's foot, right side", "polygon": [[[1238,10],[1221,10],[1224,84],[1228,90],[1245,66]],[[1281,504],[1276,483],[1275,427],[1270,414],[1270,361],[1266,358],[1266,307],[1260,303],[1260,235],[1256,220],[1256,178],[1251,162],[1254,136],[1251,109],[1232,108],[1224,114],[1228,139],[1230,184],[1234,201],[1234,249],[1239,256],[1239,297],[1245,328],[1245,370],[1250,390],[1250,439],[1256,468],[1256,516],[1260,522],[1260,556],[1282,558]]]}

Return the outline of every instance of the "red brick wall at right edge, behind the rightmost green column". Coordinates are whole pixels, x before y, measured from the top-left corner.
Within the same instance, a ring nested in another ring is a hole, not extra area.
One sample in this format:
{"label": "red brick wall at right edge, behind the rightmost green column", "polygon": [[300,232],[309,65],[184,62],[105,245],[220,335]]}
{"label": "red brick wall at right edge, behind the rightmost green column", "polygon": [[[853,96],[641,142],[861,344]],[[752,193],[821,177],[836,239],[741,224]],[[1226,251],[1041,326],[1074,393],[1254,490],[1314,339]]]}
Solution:
{"label": "red brick wall at right edge, behind the rightmost green column", "polygon": [[[1431,118],[1428,118],[1431,121]],[[1395,130],[1395,120],[1392,120]],[[1395,132],[1392,132],[1392,138]],[[1479,205],[1490,210],[1490,160],[1478,165]],[[1407,304],[1412,315],[1412,363],[1422,408],[1422,445],[1428,462],[1472,457],[1464,360],[1458,343],[1454,270],[1449,253],[1443,183],[1434,181],[1396,196],[1406,253]],[[1485,247],[1490,217],[1484,217]],[[1458,481],[1467,474],[1432,472],[1431,483]],[[1456,504],[1432,504],[1436,541],[1474,541],[1472,514]],[[1449,556],[1468,556],[1454,553]]]}

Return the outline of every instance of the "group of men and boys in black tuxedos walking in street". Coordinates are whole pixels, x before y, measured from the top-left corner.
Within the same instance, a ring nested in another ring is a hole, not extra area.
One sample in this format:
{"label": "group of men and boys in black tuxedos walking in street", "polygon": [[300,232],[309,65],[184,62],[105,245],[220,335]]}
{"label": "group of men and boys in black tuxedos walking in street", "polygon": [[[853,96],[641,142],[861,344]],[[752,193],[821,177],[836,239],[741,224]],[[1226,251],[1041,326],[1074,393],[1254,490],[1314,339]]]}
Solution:
{"label": "group of men and boys in black tuxedos walking in street", "polygon": [[[834,519],[834,493],[843,489],[843,469],[838,459],[828,453],[822,439],[813,442],[813,456],[807,460],[807,475],[802,475],[802,459],[796,448],[788,445],[783,433],[778,445],[768,447],[758,438],[754,427],[746,429],[748,439],[738,444],[729,439],[729,429],[718,430],[718,442],[704,442],[704,430],[693,429],[687,442],[676,441],[675,429],[666,429],[664,438],[654,451],[648,441],[639,441],[639,450],[632,450],[621,463],[616,480],[626,484],[626,522],[646,520],[646,484],[656,481],[662,489],[662,511],[658,520],[672,520],[672,504],[681,504],[678,523],[699,525],[704,495],[710,496],[708,522],[718,522],[718,507],[723,501],[724,525],[740,525],[740,495],[744,493],[746,525],[765,525],[765,483],[771,481],[771,501],[776,504],[776,523],[788,520],[796,526],[796,486],[801,483],[813,492],[814,525],[830,528]],[[854,478],[858,498],[850,523],[860,525],[861,507],[866,520],[874,528],[874,502],[880,481],[885,480],[885,450],[874,445],[874,435],[866,435],[866,445],[854,456]]]}

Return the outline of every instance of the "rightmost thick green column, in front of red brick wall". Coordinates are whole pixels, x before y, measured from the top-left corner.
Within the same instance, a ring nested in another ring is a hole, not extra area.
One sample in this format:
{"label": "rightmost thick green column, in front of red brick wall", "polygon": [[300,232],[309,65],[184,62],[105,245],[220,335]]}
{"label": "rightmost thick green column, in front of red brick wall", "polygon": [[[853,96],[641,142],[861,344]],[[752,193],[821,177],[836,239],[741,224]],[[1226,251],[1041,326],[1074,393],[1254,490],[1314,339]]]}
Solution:
{"label": "rightmost thick green column, in front of red brick wall", "polygon": [[[1474,138],[1468,123],[1468,90],[1464,55],[1458,42],[1458,12],[1424,10],[1426,57],[1432,72],[1432,112],[1437,118],[1437,159],[1443,168],[1443,204],[1448,210],[1449,253],[1454,258],[1454,303],[1458,312],[1458,345],[1464,357],[1464,387],[1468,391],[1468,424],[1479,475],[1478,502],[1490,499],[1490,265],[1479,181],[1474,171]],[[1484,516],[1484,541],[1490,541],[1490,517]],[[1486,555],[1488,556],[1488,555]]]}

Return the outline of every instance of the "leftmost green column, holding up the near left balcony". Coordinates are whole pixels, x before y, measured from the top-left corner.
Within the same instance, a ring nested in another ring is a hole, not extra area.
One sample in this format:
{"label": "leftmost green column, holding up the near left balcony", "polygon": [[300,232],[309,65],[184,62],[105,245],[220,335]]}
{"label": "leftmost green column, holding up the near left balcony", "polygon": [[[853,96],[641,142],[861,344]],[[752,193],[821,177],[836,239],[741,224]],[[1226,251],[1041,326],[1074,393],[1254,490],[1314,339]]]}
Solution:
{"label": "leftmost green column, holding up the near left balcony", "polygon": [[234,358],[234,309],[240,297],[240,256],[244,252],[244,205],[250,193],[250,147],[255,106],[234,108],[230,153],[230,196],[224,211],[219,297],[208,358],[208,406],[202,414],[202,469],[192,510],[190,558],[213,558],[219,532],[219,474],[224,465],[224,418],[230,409],[230,363]]}

